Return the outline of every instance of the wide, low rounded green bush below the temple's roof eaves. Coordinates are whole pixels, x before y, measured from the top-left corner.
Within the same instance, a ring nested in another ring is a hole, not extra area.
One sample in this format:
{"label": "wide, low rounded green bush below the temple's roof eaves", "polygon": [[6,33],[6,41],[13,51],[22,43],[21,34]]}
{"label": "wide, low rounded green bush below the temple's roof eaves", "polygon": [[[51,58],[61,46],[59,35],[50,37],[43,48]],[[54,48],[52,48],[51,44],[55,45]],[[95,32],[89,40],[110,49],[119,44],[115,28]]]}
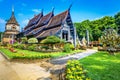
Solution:
{"label": "wide, low rounded green bush below the temple's roof eaves", "polygon": [[59,42],[60,42],[60,38],[58,38],[56,36],[49,36],[46,39],[41,41],[41,43],[43,43],[43,44],[55,44],[55,43],[59,43]]}

